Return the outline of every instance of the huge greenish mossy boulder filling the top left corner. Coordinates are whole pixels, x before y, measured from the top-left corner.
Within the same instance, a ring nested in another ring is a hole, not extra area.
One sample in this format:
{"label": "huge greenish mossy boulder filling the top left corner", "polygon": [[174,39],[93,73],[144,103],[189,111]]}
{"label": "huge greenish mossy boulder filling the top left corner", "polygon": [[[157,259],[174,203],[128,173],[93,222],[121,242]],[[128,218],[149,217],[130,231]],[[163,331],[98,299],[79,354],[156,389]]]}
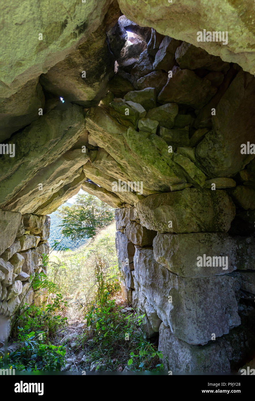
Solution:
{"label": "huge greenish mossy boulder filling the top left corner", "polygon": [[[103,22],[110,3],[110,0],[102,0],[100,4],[87,1],[65,6],[61,2],[48,4],[42,0],[38,4],[28,0],[24,7],[23,3],[11,0],[2,6],[5,23],[1,26],[1,36],[6,40],[0,51],[0,97],[16,93],[27,81],[46,73],[84,43]],[[119,8],[115,15],[118,18]],[[106,15],[106,26],[110,18]]]}

